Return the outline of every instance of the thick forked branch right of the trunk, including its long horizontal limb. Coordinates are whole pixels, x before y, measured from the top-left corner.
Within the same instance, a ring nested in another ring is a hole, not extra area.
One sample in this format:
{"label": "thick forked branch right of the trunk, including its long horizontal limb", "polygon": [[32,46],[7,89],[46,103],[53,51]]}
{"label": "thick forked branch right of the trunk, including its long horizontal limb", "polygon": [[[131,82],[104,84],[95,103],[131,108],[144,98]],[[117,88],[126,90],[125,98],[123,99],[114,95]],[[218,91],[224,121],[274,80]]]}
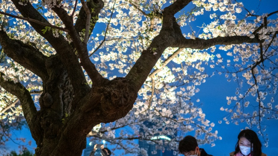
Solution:
{"label": "thick forked branch right of the trunk, including its long horizontal limb", "polygon": [[[162,30],[156,36],[150,46],[142,52],[142,55],[131,68],[126,78],[134,83],[135,91],[138,91],[145,82],[155,63],[167,47],[207,49],[217,44],[241,44],[263,42],[248,36],[216,37],[212,39],[186,39],[183,37],[180,26],[174,18],[174,14],[189,4],[191,0],[177,0],[163,11]],[[147,75],[146,75],[147,74]]]}

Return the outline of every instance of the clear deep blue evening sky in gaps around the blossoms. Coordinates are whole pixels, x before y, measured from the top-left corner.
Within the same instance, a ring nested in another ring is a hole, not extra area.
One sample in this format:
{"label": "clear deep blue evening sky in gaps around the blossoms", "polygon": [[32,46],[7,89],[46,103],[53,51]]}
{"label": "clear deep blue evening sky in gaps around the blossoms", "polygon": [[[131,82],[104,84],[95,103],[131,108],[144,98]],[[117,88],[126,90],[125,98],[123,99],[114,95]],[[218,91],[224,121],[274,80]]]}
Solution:
{"label": "clear deep blue evening sky in gaps around the blossoms", "polygon": [[[248,2],[247,0],[242,0],[243,4],[244,2]],[[249,0],[250,2],[250,0]],[[258,2],[256,0],[256,2]],[[253,8],[255,11],[258,11],[259,13],[264,12],[273,12],[277,10],[278,1],[277,0],[261,0],[260,1],[260,9],[258,9],[258,3],[253,3],[253,6],[245,6],[247,9]],[[209,16],[209,15],[208,15]],[[197,17],[198,19],[199,17]],[[196,23],[192,23],[191,26],[195,25],[202,25],[202,23],[205,23],[206,19],[210,20],[209,18],[203,17],[203,20],[198,21]],[[99,30],[102,31],[102,30]],[[217,54],[217,51],[214,52],[214,54]],[[222,54],[224,56],[226,54]],[[216,58],[217,59],[217,58]],[[207,68],[207,73],[211,73],[212,70],[215,69],[209,69]],[[211,122],[215,123],[215,126],[213,127],[213,131],[217,130],[218,135],[222,137],[222,140],[216,140],[214,143],[216,144],[214,147],[211,147],[210,145],[199,145],[200,148],[204,148],[205,151],[208,154],[214,155],[214,156],[228,156],[230,152],[234,151],[235,144],[237,142],[237,135],[241,131],[241,129],[245,129],[247,124],[242,123],[238,126],[234,125],[233,123],[225,124],[223,122],[223,117],[227,115],[227,112],[220,111],[220,107],[225,107],[227,100],[226,96],[235,96],[237,85],[233,82],[227,82],[227,79],[225,78],[225,75],[218,75],[215,74],[211,78],[207,78],[206,82],[198,86],[200,89],[200,92],[196,94],[196,97],[200,99],[200,104],[202,104],[200,107],[203,109],[203,112],[206,114],[206,119],[210,120]],[[278,98],[275,97],[275,103],[277,104]],[[255,100],[254,100],[255,102]],[[218,121],[222,120],[222,124],[219,124]],[[277,139],[278,139],[278,120],[264,120],[263,124],[266,126],[266,131],[269,135],[269,146],[263,147],[262,152],[267,154],[268,156],[275,156],[277,155],[278,151],[278,145],[277,145]],[[258,129],[254,127],[252,130],[257,131]],[[30,134],[30,131],[28,128],[23,128],[21,131],[14,131],[13,138],[20,138],[24,137],[26,138],[26,143],[19,142],[18,140],[15,140],[16,143],[27,145],[29,140],[32,140],[32,145],[28,146],[30,147],[29,150],[32,150],[32,148],[35,148],[35,141],[32,139],[32,136]],[[263,142],[262,137],[259,137],[260,140]],[[7,143],[7,148],[10,150],[18,150],[18,145],[9,141]],[[0,149],[1,150],[1,149]],[[114,155],[117,155],[114,153]]]}

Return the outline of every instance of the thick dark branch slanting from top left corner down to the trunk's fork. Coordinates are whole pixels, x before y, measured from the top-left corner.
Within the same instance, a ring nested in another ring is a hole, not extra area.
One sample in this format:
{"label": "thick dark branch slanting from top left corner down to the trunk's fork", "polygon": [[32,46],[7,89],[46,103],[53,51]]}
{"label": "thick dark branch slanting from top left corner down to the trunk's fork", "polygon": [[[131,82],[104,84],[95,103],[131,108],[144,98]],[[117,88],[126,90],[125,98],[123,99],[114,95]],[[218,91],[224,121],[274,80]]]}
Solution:
{"label": "thick dark branch slanting from top left corner down to the trunk's fork", "polygon": [[[20,0],[12,0],[13,4],[16,6],[18,11],[25,18],[32,18],[44,23],[49,23],[33,6],[29,1],[26,1],[24,5],[20,5]],[[68,16],[68,15],[67,15]],[[72,22],[72,18],[70,18],[69,22]],[[66,41],[63,35],[59,35],[58,37],[54,37],[52,31],[42,32],[44,26],[29,22],[30,25],[42,36],[44,37],[56,50],[57,55],[61,59],[62,63],[66,67],[68,71],[68,76],[73,85],[73,92],[78,94],[80,92],[85,92],[89,90],[89,86],[87,85],[87,81],[85,79],[83,70],[78,62],[78,57],[75,55],[72,47]],[[69,29],[68,29],[69,30]],[[69,30],[70,31],[70,30]]]}

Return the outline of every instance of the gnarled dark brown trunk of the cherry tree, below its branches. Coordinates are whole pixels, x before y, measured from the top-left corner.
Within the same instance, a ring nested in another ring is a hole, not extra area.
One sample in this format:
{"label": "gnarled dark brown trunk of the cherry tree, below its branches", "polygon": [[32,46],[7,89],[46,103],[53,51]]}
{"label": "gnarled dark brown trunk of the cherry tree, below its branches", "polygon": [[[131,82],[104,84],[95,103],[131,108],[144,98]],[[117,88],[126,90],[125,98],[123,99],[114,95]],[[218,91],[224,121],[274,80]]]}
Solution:
{"label": "gnarled dark brown trunk of the cherry tree, below its branches", "polygon": [[103,79],[87,95],[76,99],[59,58],[50,56],[46,67],[49,78],[43,82],[40,110],[36,114],[39,123],[36,127],[41,133],[32,133],[37,156],[81,155],[92,128],[124,117],[137,97],[125,78],[116,78]]}

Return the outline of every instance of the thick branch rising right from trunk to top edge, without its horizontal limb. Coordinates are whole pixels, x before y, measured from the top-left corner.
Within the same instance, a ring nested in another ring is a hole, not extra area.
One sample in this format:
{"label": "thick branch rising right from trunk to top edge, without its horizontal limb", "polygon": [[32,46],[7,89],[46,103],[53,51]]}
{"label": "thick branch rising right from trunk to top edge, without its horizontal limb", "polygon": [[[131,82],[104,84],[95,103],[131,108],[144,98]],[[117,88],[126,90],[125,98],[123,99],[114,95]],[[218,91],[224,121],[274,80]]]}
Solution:
{"label": "thick branch rising right from trunk to top edge, without its horizontal limb", "polygon": [[[142,52],[142,55],[131,68],[126,78],[134,84],[135,91],[138,91],[152,68],[167,47],[176,44],[182,36],[179,25],[176,23],[174,14],[185,7],[191,0],[177,0],[163,11],[162,30],[151,42],[150,46]],[[183,48],[183,47],[180,47]]]}

